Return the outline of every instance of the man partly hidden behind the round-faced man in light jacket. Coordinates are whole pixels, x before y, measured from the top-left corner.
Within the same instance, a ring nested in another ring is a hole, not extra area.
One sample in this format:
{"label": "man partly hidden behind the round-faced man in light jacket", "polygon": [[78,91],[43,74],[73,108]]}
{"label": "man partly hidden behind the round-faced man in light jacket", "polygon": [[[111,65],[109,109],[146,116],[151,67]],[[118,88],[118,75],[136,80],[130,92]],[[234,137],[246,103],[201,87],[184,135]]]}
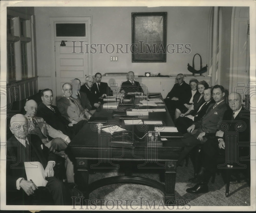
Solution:
{"label": "man partly hidden behind the round-faced man in light jacket", "polygon": [[92,106],[90,104],[90,100],[87,98],[86,93],[81,92],[81,81],[79,79],[73,79],[72,80],[72,97],[80,100],[82,107],[90,111],[92,109]]}

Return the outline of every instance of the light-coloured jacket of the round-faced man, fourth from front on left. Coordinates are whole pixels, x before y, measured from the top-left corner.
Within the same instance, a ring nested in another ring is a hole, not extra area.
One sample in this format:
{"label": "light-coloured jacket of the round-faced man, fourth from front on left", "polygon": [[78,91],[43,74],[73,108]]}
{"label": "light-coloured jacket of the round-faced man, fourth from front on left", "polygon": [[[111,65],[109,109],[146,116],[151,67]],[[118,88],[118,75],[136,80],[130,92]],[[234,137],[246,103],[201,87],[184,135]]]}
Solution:
{"label": "light-coloured jacket of the round-faced man, fourth from front on left", "polygon": [[75,98],[73,98],[73,100],[74,103],[72,103],[71,100],[63,96],[57,101],[57,107],[61,115],[68,119],[70,122],[87,120],[87,118],[84,117],[82,113],[83,107],[81,106],[80,101]]}

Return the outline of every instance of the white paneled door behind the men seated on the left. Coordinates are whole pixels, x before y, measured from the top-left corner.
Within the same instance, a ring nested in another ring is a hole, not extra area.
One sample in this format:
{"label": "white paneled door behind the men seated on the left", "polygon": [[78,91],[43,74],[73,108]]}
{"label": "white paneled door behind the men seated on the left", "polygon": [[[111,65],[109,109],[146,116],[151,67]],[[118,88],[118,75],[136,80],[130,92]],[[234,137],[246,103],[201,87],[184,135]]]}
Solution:
{"label": "white paneled door behind the men seated on the left", "polygon": [[[65,42],[66,46],[60,46],[61,42],[55,42],[57,99],[62,96],[61,89],[64,83],[71,83],[71,80],[74,78],[80,79],[83,83],[85,76],[90,73],[88,67],[88,64],[90,64],[89,55],[87,53],[80,53],[80,48],[73,48],[73,43],[68,41]],[[80,42],[76,42],[76,45],[77,43]],[[83,41],[83,44],[86,43],[86,41]]]}

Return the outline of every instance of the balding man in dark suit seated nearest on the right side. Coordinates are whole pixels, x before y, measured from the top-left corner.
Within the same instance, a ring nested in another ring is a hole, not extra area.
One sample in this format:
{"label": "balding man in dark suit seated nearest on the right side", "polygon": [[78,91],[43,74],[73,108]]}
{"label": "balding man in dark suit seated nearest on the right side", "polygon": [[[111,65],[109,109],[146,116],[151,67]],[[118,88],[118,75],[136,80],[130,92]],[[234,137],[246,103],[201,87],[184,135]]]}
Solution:
{"label": "balding man in dark suit seated nearest on the right side", "polygon": [[[230,108],[225,112],[223,121],[219,124],[220,128],[223,127],[223,124],[225,130],[217,131],[215,138],[205,142],[201,150],[201,170],[195,180],[199,183],[192,188],[188,188],[186,190],[188,193],[199,194],[208,192],[208,182],[212,173],[216,171],[217,165],[228,163],[229,165],[239,166],[239,164],[245,164],[248,170],[250,168],[250,160],[241,160],[241,157],[246,158],[250,155],[250,111],[245,110],[242,106],[242,98],[239,93],[230,93],[228,102]],[[234,138],[236,133],[238,133],[237,139]],[[229,136],[227,136],[228,134]],[[229,144],[229,147],[227,147],[227,137],[232,137],[232,140],[229,139],[232,143]],[[231,158],[226,156],[225,148],[232,148],[232,150],[229,150],[229,152],[232,152]],[[230,159],[233,162],[227,162]]]}

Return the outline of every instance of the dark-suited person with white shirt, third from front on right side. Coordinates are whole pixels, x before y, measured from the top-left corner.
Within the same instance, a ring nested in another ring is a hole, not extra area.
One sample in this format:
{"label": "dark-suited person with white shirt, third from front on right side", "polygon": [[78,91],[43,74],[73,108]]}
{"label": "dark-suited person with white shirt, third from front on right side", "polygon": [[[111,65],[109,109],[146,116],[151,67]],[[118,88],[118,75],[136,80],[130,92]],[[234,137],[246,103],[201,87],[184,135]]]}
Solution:
{"label": "dark-suited person with white shirt, third from front on right side", "polygon": [[215,103],[215,101],[212,99],[212,87],[208,87],[204,90],[204,100],[205,102],[197,111],[193,110],[191,114],[186,115],[185,117],[179,117],[175,120],[175,126],[179,132],[185,134],[187,132],[187,128],[190,127],[194,122],[201,120],[209,106],[212,103]]}

